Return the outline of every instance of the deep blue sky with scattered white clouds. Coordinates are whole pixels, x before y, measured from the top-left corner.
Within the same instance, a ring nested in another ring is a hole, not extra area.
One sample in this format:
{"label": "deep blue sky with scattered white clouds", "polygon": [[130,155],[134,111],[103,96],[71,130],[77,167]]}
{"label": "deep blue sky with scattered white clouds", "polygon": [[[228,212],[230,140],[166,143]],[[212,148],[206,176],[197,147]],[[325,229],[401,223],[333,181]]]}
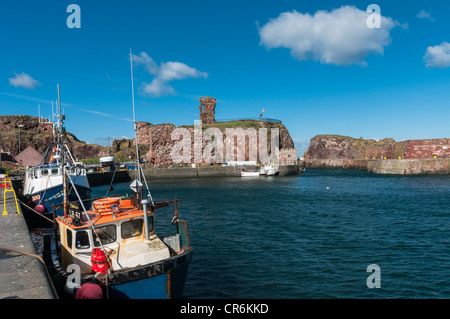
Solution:
{"label": "deep blue sky with scattered white clouds", "polygon": [[[371,3],[381,28],[360,23]],[[433,0],[2,0],[0,114],[48,118],[59,83],[68,131],[132,138],[131,48],[138,121],[191,125],[212,96],[216,119],[264,108],[300,153],[317,134],[448,138],[449,16]]]}

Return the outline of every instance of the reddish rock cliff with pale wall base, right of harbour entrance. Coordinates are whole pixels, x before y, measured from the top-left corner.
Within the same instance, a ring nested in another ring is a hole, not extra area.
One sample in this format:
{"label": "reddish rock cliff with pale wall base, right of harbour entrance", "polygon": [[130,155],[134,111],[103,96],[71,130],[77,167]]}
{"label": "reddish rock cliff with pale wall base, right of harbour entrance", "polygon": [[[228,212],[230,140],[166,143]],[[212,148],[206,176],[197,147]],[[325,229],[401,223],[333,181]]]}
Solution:
{"label": "reddish rock cliff with pale wall base, right of harbour entrance", "polygon": [[450,174],[450,139],[380,141],[318,135],[305,152],[305,167],[361,169],[377,174]]}

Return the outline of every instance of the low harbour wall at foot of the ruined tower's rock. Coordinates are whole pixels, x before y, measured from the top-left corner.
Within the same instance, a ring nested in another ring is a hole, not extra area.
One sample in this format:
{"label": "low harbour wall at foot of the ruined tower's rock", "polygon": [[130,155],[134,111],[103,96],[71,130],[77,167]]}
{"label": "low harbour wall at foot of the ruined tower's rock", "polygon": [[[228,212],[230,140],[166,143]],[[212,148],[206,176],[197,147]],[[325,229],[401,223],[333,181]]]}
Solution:
{"label": "low harbour wall at foot of the ruined tower's rock", "polygon": [[[247,171],[259,170],[260,166],[246,165],[246,166],[216,166],[216,167],[182,167],[182,168],[146,168],[144,175],[147,179],[173,179],[173,178],[203,178],[203,177],[230,177],[241,176],[241,169],[245,168]],[[278,169],[279,175],[296,175],[300,173],[298,165],[280,166]],[[89,185],[91,187],[100,185],[109,185],[112,183],[131,182],[135,179],[136,171],[116,171],[103,173],[89,173],[87,174]],[[113,179],[114,178],[114,179]]]}

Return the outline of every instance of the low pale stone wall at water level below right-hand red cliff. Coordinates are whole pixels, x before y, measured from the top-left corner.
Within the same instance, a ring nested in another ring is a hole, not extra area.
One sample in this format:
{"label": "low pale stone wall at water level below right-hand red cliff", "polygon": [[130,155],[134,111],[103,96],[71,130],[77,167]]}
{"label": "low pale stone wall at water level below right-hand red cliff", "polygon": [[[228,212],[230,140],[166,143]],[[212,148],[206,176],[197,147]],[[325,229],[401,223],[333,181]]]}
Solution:
{"label": "low pale stone wall at water level below right-hand red cliff", "polygon": [[450,158],[416,158],[416,159],[307,159],[309,168],[344,168],[359,169],[375,174],[450,174]]}

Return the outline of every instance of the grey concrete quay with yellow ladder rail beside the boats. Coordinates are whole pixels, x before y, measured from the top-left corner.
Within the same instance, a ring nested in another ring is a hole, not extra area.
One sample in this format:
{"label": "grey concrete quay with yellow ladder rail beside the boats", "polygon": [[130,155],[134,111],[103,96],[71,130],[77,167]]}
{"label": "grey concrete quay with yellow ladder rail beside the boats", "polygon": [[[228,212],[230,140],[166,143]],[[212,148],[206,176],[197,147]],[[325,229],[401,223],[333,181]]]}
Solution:
{"label": "grey concrete quay with yellow ladder rail beside the boats", "polygon": [[0,179],[0,298],[55,299],[11,180]]}

